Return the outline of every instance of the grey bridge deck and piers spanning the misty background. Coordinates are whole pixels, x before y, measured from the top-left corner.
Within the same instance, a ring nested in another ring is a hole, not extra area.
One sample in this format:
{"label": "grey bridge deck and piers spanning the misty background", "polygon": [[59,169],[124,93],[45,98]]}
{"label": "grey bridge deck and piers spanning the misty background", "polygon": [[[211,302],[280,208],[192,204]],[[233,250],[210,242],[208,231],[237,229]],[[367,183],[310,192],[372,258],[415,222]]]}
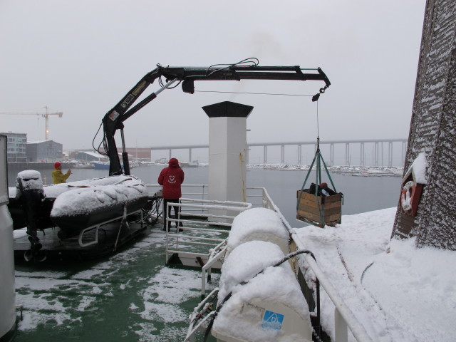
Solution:
{"label": "grey bridge deck and piers spanning the misty background", "polygon": [[[407,148],[407,139],[371,139],[371,140],[321,140],[320,141],[320,150],[329,150],[329,160],[326,160],[326,164],[334,164],[334,150],[337,146],[344,147],[345,150],[345,165],[360,165],[360,166],[393,166],[393,156],[396,157],[397,165],[404,165],[404,157]],[[247,147],[249,150],[252,147],[263,147],[263,163],[268,163],[268,147],[281,147],[281,163],[285,164],[285,147],[286,146],[296,146],[297,147],[297,158],[296,165],[302,164],[302,155],[303,155],[303,146],[314,146],[314,153],[316,151],[316,141],[294,141],[294,142],[248,142]],[[369,152],[371,155],[371,165],[366,165],[366,145],[372,147],[372,152]],[[383,146],[388,147],[386,153],[383,151]],[[393,146],[396,150],[393,150]],[[153,146],[151,147],[153,151],[159,150],[168,150],[169,157],[172,156],[172,150],[188,150],[188,160],[192,161],[192,150],[195,149],[209,149],[209,145],[173,145],[173,146]],[[357,150],[359,153],[359,160],[356,159],[356,162],[352,162],[352,155],[350,150]],[[383,165],[383,156],[387,157],[387,165]],[[247,162],[249,158],[247,157]],[[381,164],[381,165],[380,165]]]}

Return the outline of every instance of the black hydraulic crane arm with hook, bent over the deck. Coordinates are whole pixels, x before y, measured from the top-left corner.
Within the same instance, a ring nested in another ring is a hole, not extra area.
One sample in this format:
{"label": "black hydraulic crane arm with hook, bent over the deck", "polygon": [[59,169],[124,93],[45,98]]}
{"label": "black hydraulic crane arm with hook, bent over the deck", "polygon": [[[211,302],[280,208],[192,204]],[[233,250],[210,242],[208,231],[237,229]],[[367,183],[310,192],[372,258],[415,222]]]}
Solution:
{"label": "black hydraulic crane arm with hook, bent over the deck", "polygon": [[[167,83],[155,91],[155,93],[147,95],[146,98],[132,107],[145,89],[157,78],[161,77],[165,78]],[[154,100],[162,90],[165,90],[177,81],[181,81],[182,90],[185,93],[192,94],[195,91],[195,81],[241,80],[323,81],[325,86],[320,88],[319,93],[324,93],[326,88],[331,85],[321,68],[302,69],[299,66],[242,66],[238,64],[209,67],[162,67],[157,65],[157,68],[141,78],[122,100],[106,113],[102,120],[105,135],[105,152],[110,161],[109,175],[120,175],[123,173],[114,138],[115,132],[118,129],[120,129],[122,135],[124,172],[125,175],[130,175],[128,154],[125,151],[125,140],[123,137],[123,122],[147,105],[147,103]],[[314,100],[318,98],[318,95],[314,96]]]}

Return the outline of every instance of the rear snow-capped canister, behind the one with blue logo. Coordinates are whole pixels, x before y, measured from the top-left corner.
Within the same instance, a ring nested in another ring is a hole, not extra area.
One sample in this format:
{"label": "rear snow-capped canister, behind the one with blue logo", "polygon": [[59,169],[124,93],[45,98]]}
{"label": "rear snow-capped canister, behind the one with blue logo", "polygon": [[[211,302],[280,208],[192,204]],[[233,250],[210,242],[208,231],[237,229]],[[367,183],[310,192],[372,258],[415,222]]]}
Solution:
{"label": "rear snow-capped canister, behind the one with blue logo", "polygon": [[234,218],[227,242],[228,251],[252,240],[274,242],[282,252],[288,253],[289,233],[274,210],[253,208]]}

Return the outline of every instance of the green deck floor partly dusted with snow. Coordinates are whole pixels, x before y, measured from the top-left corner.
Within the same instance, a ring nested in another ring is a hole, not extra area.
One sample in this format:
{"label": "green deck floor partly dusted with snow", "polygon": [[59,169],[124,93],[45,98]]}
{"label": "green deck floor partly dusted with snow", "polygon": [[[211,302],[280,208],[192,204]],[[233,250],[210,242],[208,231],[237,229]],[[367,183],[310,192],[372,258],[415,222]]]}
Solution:
{"label": "green deck floor partly dusted with snow", "polygon": [[15,341],[183,341],[200,289],[200,271],[165,266],[161,224],[96,260],[18,256]]}

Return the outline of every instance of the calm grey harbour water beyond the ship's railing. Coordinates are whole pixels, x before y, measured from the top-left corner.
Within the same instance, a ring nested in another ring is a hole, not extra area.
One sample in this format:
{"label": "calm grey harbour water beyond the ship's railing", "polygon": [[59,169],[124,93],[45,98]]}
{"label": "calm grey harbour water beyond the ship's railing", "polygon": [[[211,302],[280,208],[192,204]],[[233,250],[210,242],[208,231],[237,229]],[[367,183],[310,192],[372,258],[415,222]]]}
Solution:
{"label": "calm grey harbour water beyond the ship's railing", "polygon": [[[165,165],[147,165],[133,167],[132,175],[139,177],[146,184],[157,184],[157,178]],[[53,169],[41,170],[43,183],[52,184],[51,172]],[[187,185],[207,184],[209,179],[209,167],[184,167],[185,181]],[[17,172],[9,165],[9,187],[14,187]],[[105,177],[107,170],[76,169],[73,168],[68,182],[76,180],[88,180]],[[63,172],[66,169],[63,168]],[[302,227],[302,222],[296,222],[296,190],[301,190],[307,171],[304,170],[269,170],[264,168],[249,168],[247,170],[247,187],[265,187],[281,213],[289,221],[291,227]],[[326,174],[322,172],[323,181],[328,181]],[[342,214],[359,214],[377,209],[395,207],[400,195],[400,177],[397,176],[361,176],[343,173],[332,173],[331,178],[338,192],[343,193]],[[312,172],[307,181],[315,182],[315,173]]]}

